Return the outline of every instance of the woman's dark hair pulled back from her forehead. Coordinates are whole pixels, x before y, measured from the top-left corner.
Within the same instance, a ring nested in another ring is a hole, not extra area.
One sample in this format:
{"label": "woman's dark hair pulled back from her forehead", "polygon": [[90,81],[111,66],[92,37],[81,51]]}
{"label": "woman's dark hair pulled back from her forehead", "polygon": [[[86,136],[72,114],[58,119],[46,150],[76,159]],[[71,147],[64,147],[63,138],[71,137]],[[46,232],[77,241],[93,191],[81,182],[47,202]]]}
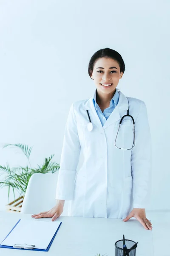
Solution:
{"label": "woman's dark hair pulled back from her forehead", "polygon": [[[122,59],[122,56],[119,54],[119,52],[116,52],[113,49],[110,48],[104,48],[100,49],[97,52],[94,53],[94,55],[91,57],[89,64],[88,64],[88,74],[91,78],[91,75],[93,73],[94,64],[99,58],[113,58],[115,61],[119,63],[120,72],[125,72],[125,63]],[[93,78],[91,78],[93,79]],[[94,79],[93,79],[94,80]]]}

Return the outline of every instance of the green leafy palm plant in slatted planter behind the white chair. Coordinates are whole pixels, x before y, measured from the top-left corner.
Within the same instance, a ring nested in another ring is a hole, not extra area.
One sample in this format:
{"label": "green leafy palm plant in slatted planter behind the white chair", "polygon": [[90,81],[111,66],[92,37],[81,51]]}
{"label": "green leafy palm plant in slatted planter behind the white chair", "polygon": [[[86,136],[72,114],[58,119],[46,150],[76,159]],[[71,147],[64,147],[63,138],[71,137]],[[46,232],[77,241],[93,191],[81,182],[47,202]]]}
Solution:
{"label": "green leafy palm plant in slatted planter behind the white chair", "polygon": [[[33,169],[29,160],[32,147],[23,144],[6,144],[3,146],[3,148],[6,148],[8,146],[14,146],[19,148],[28,160],[28,165],[26,165],[25,167],[18,166],[11,168],[9,167],[8,163],[6,164],[6,166],[0,166],[0,187],[8,186],[8,200],[10,189],[12,189],[14,194],[14,201],[8,204],[6,206],[6,209],[8,211],[13,210],[15,212],[20,212],[23,198],[28,186],[28,181],[31,175],[33,175],[34,173],[54,173],[59,170],[60,166],[58,163],[52,161],[52,158],[54,157],[53,154],[51,155],[51,157],[45,158],[45,161],[41,166],[38,165],[37,168]],[[20,196],[17,199],[15,199],[15,191],[18,191],[20,193]],[[17,204],[14,204],[16,202]]]}

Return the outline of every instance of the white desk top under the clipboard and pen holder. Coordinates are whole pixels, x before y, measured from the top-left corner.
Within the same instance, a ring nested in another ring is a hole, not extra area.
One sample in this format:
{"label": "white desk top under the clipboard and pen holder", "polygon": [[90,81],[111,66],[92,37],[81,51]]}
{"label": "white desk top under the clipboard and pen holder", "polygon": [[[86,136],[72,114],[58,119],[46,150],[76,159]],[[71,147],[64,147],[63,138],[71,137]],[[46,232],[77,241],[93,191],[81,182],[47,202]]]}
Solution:
{"label": "white desk top under the clipboard and pen holder", "polygon": [[[124,233],[125,238],[139,241],[136,256],[170,256],[170,251],[165,248],[169,243],[167,236],[170,228],[169,217],[170,212],[148,213],[147,218],[153,224],[153,231],[150,231],[145,230],[136,220],[123,222],[120,219],[119,230],[114,230],[115,220],[111,218],[60,216],[57,220],[62,221],[62,225],[48,252],[0,248],[0,255],[30,256],[36,253],[36,255],[48,256],[95,256],[97,253],[100,255],[107,253],[108,256],[114,256],[114,244],[117,240],[122,239]],[[0,212],[0,241],[8,234],[19,218],[31,219],[33,223],[40,220],[51,221],[51,218],[33,219],[31,214]],[[136,230],[139,231],[137,238],[134,237]],[[153,237],[151,246],[147,242],[146,236],[148,234],[150,240]]]}

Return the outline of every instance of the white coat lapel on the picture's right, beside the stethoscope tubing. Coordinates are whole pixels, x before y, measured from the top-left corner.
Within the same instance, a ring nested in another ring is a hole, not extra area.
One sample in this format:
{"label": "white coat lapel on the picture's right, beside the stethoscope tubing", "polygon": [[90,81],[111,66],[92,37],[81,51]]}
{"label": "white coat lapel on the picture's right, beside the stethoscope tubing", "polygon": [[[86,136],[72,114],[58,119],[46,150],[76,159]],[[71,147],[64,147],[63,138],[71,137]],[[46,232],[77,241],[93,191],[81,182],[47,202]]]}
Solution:
{"label": "white coat lapel on the picture's right, beside the stethoscope tubing", "polygon": [[114,122],[120,120],[123,115],[125,115],[125,111],[128,109],[128,100],[126,96],[119,91],[119,102],[116,105],[116,108],[113,110],[109,118],[106,120],[103,129],[107,128],[109,125],[112,125]]}

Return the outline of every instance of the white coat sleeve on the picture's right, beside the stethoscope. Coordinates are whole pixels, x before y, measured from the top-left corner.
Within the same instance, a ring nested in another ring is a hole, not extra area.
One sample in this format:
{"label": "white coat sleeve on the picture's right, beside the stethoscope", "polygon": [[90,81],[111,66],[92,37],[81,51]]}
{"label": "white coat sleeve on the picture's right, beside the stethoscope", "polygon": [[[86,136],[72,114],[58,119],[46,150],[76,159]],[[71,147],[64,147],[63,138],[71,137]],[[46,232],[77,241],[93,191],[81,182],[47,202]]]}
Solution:
{"label": "white coat sleeve on the picture's right, beside the stethoscope", "polygon": [[150,203],[151,194],[151,135],[143,101],[135,122],[135,137],[136,143],[131,154],[133,207],[145,209]]}

